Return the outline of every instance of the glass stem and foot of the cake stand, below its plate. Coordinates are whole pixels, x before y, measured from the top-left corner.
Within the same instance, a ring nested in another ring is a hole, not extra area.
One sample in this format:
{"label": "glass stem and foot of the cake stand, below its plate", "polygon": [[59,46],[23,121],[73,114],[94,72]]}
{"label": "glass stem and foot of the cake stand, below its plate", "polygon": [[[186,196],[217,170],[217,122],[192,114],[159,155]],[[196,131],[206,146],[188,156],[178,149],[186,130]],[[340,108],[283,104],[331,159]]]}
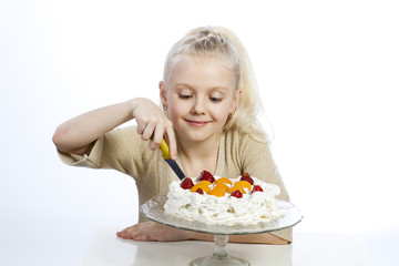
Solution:
{"label": "glass stem and foot of the cake stand, below its plate", "polygon": [[190,266],[250,266],[242,258],[231,257],[226,252],[228,235],[214,235],[215,250],[212,256],[196,258]]}

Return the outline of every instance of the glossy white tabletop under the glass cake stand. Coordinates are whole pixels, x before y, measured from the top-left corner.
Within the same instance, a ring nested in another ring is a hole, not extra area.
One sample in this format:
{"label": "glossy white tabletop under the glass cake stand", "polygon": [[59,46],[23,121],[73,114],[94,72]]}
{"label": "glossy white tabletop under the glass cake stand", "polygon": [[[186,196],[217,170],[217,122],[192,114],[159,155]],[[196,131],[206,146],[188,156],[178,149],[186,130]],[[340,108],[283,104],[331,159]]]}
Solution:
{"label": "glossy white tabletop under the glass cake stand", "polygon": [[[187,265],[209,256],[214,244],[206,242],[134,242],[117,238],[117,227],[99,227],[84,258],[84,266]],[[352,234],[295,233],[291,245],[227,244],[231,256],[252,266],[365,266],[370,264],[366,238]],[[375,264],[377,265],[377,264]]]}

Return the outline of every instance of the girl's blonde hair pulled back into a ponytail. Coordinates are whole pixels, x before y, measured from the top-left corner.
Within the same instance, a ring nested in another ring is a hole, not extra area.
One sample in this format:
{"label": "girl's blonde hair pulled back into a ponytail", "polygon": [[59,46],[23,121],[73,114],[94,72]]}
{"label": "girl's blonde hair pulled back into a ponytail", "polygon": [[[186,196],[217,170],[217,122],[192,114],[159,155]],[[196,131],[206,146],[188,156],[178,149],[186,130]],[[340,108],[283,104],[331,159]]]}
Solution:
{"label": "girl's blonde hair pulled back into a ponytail", "polygon": [[257,120],[263,106],[255,74],[248,54],[239,39],[223,27],[201,27],[187,32],[168,52],[164,66],[164,83],[181,60],[194,57],[211,57],[223,60],[234,73],[239,102],[234,114],[224,125],[224,131],[241,131],[258,141],[267,141],[266,132]]}

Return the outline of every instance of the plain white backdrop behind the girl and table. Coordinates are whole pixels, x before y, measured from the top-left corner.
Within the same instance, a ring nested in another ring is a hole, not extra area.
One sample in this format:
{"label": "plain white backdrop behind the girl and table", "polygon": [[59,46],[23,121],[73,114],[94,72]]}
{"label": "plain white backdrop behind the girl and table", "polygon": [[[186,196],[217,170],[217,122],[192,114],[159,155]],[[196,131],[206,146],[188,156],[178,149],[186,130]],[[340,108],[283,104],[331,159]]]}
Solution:
{"label": "plain white backdrop behind the girl and table", "polygon": [[[321,3],[323,2],[323,3]],[[61,122],[155,102],[171,45],[225,25],[253,61],[275,161],[304,232],[397,231],[396,1],[0,1],[0,264],[80,265],[98,226],[135,223],[115,171],[63,165]]]}

